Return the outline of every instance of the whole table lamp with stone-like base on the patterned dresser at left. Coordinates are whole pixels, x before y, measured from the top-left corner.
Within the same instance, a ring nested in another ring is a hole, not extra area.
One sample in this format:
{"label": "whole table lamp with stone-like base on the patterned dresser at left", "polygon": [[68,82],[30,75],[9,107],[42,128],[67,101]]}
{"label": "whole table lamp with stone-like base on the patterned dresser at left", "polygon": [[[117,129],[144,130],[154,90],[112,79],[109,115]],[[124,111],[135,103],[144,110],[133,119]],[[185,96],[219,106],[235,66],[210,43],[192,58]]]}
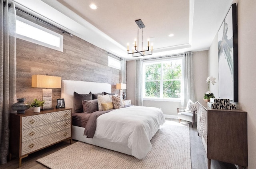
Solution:
{"label": "whole table lamp with stone-like base on the patterned dresser at left", "polygon": [[[61,77],[48,75],[32,75],[32,87],[36,88],[61,88]],[[52,108],[52,89],[43,89],[44,105],[42,110]]]}

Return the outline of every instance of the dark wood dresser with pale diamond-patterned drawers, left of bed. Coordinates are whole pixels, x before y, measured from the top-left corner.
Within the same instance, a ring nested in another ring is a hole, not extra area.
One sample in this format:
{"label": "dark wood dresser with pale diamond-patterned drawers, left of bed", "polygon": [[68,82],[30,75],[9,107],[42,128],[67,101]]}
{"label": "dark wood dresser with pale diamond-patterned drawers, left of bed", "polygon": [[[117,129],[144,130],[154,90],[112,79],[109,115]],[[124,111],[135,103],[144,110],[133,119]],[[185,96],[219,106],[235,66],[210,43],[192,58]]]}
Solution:
{"label": "dark wood dresser with pale diamond-patterned drawers, left of bed", "polygon": [[20,167],[22,158],[30,153],[63,140],[70,140],[71,144],[71,126],[72,108],[11,113],[10,158],[19,157]]}

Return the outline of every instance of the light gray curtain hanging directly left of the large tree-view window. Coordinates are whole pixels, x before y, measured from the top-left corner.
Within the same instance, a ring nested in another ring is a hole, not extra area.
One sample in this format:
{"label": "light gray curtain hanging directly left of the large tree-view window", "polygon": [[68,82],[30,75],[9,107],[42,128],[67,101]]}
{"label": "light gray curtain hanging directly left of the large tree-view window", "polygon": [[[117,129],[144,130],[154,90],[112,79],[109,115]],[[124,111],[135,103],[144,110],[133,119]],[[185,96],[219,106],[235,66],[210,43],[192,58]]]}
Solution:
{"label": "light gray curtain hanging directly left of the large tree-view window", "polygon": [[141,59],[136,59],[136,75],[135,75],[135,93],[134,93],[134,104],[136,106],[143,106],[143,91],[142,91],[142,81],[143,81],[143,61]]}

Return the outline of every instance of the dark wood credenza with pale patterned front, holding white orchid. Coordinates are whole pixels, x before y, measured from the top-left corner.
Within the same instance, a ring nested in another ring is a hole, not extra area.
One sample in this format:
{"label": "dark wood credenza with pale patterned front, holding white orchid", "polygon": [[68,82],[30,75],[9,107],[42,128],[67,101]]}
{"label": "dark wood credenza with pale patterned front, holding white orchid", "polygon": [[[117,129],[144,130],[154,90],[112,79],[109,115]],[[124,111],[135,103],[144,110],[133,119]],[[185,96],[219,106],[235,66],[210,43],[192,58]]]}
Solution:
{"label": "dark wood credenza with pale patterned front, holding white orchid", "polygon": [[197,130],[210,169],[211,159],[232,163],[239,169],[248,165],[247,112],[212,109],[197,102]]}

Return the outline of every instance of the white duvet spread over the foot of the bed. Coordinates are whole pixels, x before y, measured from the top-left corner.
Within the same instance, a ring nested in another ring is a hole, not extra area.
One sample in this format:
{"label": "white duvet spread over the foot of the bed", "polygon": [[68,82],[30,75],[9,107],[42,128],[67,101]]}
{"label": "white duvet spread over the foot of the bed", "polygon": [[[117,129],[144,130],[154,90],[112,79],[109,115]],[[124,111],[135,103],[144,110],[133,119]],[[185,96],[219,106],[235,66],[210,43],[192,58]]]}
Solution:
{"label": "white duvet spread over the foot of the bed", "polygon": [[128,145],[132,155],[142,159],[152,148],[151,138],[164,122],[164,114],[159,108],[120,108],[97,118],[94,137]]}

